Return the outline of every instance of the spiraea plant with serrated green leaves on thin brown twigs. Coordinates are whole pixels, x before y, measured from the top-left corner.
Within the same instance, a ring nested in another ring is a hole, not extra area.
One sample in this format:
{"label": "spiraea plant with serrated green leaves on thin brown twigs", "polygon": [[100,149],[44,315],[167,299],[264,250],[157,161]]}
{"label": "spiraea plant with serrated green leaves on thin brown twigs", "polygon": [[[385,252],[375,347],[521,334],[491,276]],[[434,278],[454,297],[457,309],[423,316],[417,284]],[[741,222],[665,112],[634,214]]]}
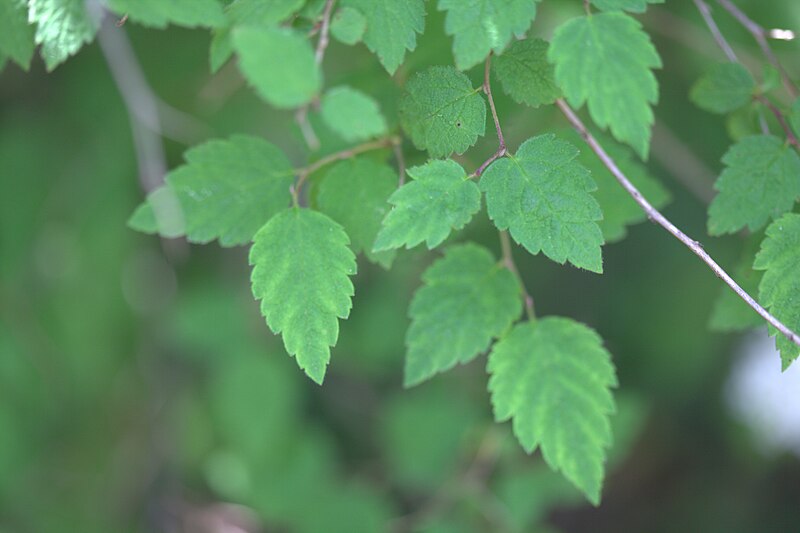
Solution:
{"label": "spiraea plant with serrated green leaves on thin brown twigs", "polygon": [[[712,326],[767,323],[784,368],[800,354],[797,88],[767,30],[730,0],[713,11],[694,0],[726,61],[708,61],[687,96],[730,124],[757,124],[736,130],[708,207],[710,235],[752,241],[729,275],[659,211],[670,195],[648,170],[658,77],[671,73],[641,17],[662,1],[2,0],[0,64],[27,68],[38,45],[54,69],[96,37],[108,55],[131,24],[210,30],[211,72],[238,69],[263,105],[294,114],[304,153],[245,134],[193,146],[150,184],[129,226],[248,247],[266,325],[320,385],[336,365],[359,257],[388,276],[398,255],[431,250],[408,309],[404,384],[488,354],[496,421],[510,421],[527,453],[540,450],[598,505],[619,388],[612,354],[589,325],[537,313],[515,257],[601,275],[604,247],[649,220],[684,245],[674,253],[696,255],[726,285]],[[540,22],[550,3],[568,16]],[[425,53],[434,10],[444,13],[452,61],[418,68],[424,62],[407,58]],[[763,51],[757,70],[740,61],[721,16],[752,33]],[[392,89],[329,81],[331,47],[366,47],[372,62],[353,70]],[[126,90],[137,79],[119,76],[135,110]],[[514,107],[498,112],[498,93],[562,118],[519,123]],[[131,116],[136,131],[148,128],[146,116]],[[522,142],[507,142],[508,125],[525,131]],[[475,164],[482,137],[493,151]],[[496,228],[499,254],[460,235],[473,222]]]}

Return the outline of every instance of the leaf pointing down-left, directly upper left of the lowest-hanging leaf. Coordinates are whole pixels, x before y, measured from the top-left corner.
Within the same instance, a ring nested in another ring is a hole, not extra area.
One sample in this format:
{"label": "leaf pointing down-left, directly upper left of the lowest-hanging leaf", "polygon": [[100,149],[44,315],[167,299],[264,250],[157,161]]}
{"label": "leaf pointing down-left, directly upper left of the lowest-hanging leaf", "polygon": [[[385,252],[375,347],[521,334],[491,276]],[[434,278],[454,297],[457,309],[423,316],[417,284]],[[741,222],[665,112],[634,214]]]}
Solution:
{"label": "leaf pointing down-left, directly upper left of the lowest-hanging leaf", "polygon": [[406,387],[472,361],[522,311],[514,275],[475,244],[448,249],[422,281],[409,310]]}

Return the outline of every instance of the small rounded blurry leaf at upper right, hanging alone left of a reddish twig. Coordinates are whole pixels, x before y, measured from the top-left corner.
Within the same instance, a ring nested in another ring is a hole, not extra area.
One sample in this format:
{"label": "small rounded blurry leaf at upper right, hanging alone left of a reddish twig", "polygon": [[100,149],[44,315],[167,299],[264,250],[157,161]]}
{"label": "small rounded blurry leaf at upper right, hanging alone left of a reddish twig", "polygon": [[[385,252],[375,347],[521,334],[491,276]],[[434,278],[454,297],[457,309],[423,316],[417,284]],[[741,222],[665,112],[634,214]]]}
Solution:
{"label": "small rounded blurry leaf at upper right, hanging alone left of a reddish twig", "polygon": [[719,63],[695,82],[689,98],[700,109],[725,114],[750,103],[755,88],[755,80],[742,65]]}

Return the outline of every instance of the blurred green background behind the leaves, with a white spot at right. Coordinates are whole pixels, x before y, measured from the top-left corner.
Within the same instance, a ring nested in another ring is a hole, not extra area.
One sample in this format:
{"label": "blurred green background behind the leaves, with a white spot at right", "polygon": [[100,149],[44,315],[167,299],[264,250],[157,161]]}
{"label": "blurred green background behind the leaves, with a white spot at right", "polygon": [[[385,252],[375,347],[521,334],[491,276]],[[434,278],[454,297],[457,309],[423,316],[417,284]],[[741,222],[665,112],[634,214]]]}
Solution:
{"label": "blurred green background behind the leaves, with a white spot at right", "polygon": [[[797,2],[738,4],[800,30]],[[328,86],[364,90],[396,125],[404,79],[452,64],[442,14],[433,2],[428,12],[394,79],[363,45],[334,41]],[[530,34],[581,12],[545,0]],[[759,72],[749,34],[715,16]],[[721,155],[755,118],[689,103],[692,82],[723,60],[692,2],[641,20],[664,61],[648,167],[671,192],[667,215],[734,268],[747,239],[707,237],[705,210]],[[208,32],[116,31],[162,102],[169,168],[233,133],[307,162],[290,113],[261,102],[235,65],[210,74]],[[800,72],[800,43],[774,47]],[[318,387],[264,324],[245,248],[128,229],[144,193],[109,61],[93,44],[50,74],[38,59],[0,74],[0,532],[800,531],[797,365],[780,374],[764,330],[710,331],[722,286],[662,230],[644,223],[605,247],[602,276],[517,253],[537,312],[597,329],[618,368],[616,440],[593,508],[492,422],[484,358],[402,389],[408,302],[437,252],[402,252],[390,272],[359,258],[352,315]],[[495,93],[512,147],[566,126]],[[494,151],[489,132],[466,168]],[[337,149],[325,135],[323,151]],[[451,240],[464,239],[499,250],[485,216]]]}

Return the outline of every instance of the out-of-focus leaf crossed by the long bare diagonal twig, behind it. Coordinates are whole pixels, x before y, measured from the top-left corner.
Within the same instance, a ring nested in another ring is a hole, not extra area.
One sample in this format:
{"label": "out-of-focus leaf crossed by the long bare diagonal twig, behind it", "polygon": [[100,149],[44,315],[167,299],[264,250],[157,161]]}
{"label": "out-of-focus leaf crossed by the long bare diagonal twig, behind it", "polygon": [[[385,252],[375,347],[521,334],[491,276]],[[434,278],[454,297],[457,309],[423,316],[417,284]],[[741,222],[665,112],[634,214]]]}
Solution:
{"label": "out-of-focus leaf crossed by the long bare diagonal twig, behind it", "polygon": [[[647,167],[635,159],[628,147],[600,133],[594,133],[594,136],[619,169],[656,209],[664,207],[669,202],[669,191],[650,174]],[[564,137],[578,146],[580,154],[577,161],[592,173],[592,179],[597,184],[594,198],[603,211],[603,220],[597,223],[603,232],[603,238],[607,243],[622,240],[628,233],[627,226],[644,222],[647,215],[620,186],[580,135],[574,130],[569,130],[565,132]]]}

